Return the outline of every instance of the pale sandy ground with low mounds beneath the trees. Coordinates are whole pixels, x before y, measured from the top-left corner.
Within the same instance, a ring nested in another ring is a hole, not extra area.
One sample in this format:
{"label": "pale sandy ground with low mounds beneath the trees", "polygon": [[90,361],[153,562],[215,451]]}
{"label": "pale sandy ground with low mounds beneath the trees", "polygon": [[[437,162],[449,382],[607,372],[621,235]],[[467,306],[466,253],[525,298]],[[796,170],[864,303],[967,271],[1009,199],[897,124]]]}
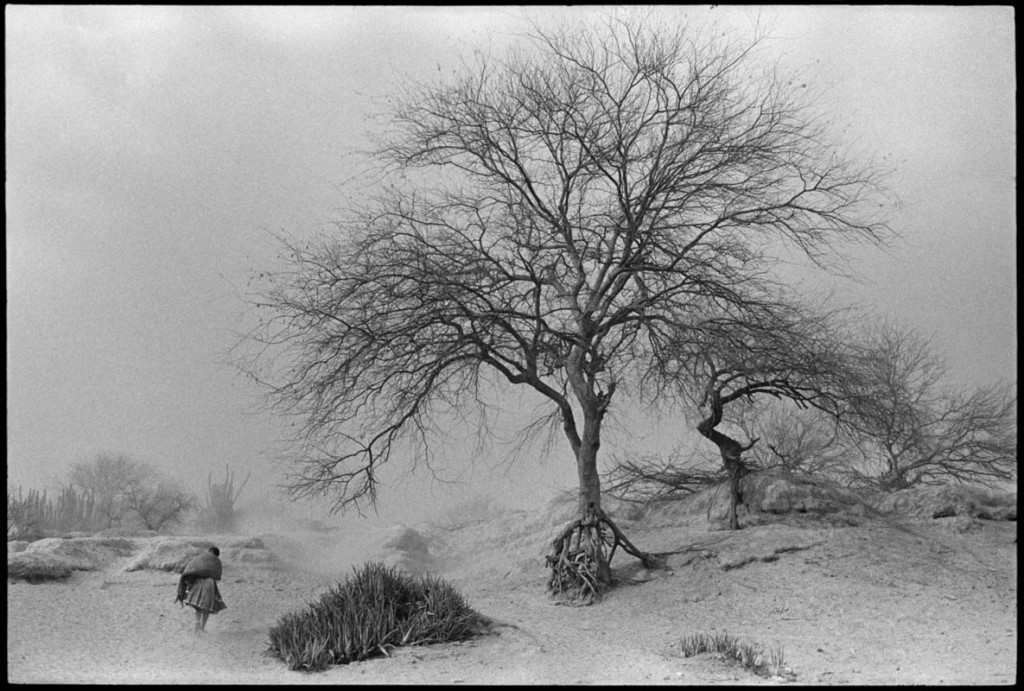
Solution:
{"label": "pale sandy ground with low mounds beneath the trees", "polygon": [[[739,531],[722,529],[727,491],[652,506],[607,502],[629,537],[662,554],[666,567],[646,570],[616,554],[617,587],[591,607],[557,605],[544,592],[544,555],[571,519],[571,500],[449,529],[395,526],[358,550],[352,536],[312,532],[9,546],[8,681],[771,683],[714,654],[679,654],[685,636],[724,633],[781,645],[798,683],[1014,683],[1015,495],[915,490],[886,506],[793,478],[753,482]],[[176,568],[210,544],[222,550],[228,608],[197,638],[190,610],[173,603]],[[20,554],[69,573],[11,580]],[[312,675],[265,654],[280,616],[368,558],[442,575],[496,621],[495,633]]]}

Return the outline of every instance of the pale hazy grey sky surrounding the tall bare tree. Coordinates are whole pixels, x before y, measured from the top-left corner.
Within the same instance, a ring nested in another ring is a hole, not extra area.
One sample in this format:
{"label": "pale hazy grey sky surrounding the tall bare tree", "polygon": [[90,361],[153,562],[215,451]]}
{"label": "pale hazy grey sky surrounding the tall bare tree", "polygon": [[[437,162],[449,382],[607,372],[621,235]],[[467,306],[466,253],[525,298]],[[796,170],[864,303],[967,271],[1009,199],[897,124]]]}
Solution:
{"label": "pale hazy grey sky surrounding the tall bare tree", "polygon": [[[244,323],[239,293],[271,261],[273,233],[331,219],[396,80],[451,72],[475,47],[501,51],[522,12],[5,11],[8,482],[53,486],[100,451],[172,469],[196,489],[224,464],[272,481],[280,423],[254,412],[256,392],[224,364]],[[530,11],[547,21],[599,9]],[[865,254],[871,283],[841,295],[934,336],[958,385],[1015,381],[1013,9],[655,15],[710,16],[742,35],[759,16],[771,25],[767,50],[782,68],[820,92],[845,136],[896,166],[904,206],[892,221],[906,242]],[[472,485],[526,506],[573,480],[556,447],[505,476],[483,461]],[[406,486],[382,510],[428,512],[470,491]]]}

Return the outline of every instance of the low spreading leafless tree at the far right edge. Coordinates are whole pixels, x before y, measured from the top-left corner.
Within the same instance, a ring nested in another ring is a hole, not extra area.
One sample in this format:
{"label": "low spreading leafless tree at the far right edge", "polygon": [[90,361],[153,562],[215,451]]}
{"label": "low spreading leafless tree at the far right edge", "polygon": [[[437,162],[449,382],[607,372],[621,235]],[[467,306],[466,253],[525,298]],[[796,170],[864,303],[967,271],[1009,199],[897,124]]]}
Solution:
{"label": "low spreading leafless tree at the far right edge", "polygon": [[1016,386],[952,390],[928,340],[885,321],[866,329],[860,365],[850,421],[862,482],[902,489],[1016,478]]}

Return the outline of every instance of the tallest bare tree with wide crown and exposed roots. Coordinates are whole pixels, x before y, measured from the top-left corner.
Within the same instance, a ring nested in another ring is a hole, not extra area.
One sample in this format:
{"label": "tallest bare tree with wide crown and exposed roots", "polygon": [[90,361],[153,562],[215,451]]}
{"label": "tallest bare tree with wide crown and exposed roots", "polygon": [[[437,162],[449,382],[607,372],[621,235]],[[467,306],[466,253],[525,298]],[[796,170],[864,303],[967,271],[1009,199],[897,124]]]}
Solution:
{"label": "tallest bare tree with wide crown and exposed roots", "polygon": [[[757,55],[612,16],[410,85],[383,182],[340,232],[286,243],[243,368],[300,422],[297,496],[373,502],[380,466],[492,386],[550,404],[579,476],[552,591],[590,601],[618,547],[598,449],[616,392],[710,313],[739,318],[788,246],[827,264],[878,242],[878,175],[829,144]],[[649,390],[649,389],[648,389]]]}

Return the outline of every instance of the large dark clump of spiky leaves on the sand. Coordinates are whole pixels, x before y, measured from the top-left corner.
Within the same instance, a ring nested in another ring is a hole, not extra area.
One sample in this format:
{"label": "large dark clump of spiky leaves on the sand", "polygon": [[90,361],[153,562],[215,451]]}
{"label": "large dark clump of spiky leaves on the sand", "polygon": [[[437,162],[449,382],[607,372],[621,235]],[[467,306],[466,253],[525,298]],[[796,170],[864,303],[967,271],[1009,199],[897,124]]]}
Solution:
{"label": "large dark clump of spiky leaves on the sand", "polygon": [[396,646],[466,640],[482,630],[483,617],[441,578],[411,576],[379,562],[353,570],[270,629],[269,650],[289,670],[316,672],[387,655]]}

